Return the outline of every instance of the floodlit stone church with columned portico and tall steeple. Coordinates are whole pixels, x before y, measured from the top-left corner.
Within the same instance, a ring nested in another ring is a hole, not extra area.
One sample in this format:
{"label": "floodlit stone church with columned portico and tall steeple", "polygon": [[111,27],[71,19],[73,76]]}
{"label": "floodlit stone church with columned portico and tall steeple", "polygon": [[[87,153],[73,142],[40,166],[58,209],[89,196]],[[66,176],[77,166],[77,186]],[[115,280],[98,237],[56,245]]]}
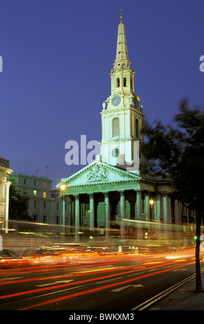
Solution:
{"label": "floodlit stone church with columned portico and tall steeple", "polygon": [[[63,204],[70,201],[65,232],[76,242],[178,239],[183,233],[183,206],[172,195],[169,177],[142,174],[140,148],[145,114],[134,88],[123,17],[120,16],[111,90],[101,111],[101,154],[96,161],[61,179]],[[186,216],[186,223],[194,215]],[[65,224],[65,213],[62,213]]]}

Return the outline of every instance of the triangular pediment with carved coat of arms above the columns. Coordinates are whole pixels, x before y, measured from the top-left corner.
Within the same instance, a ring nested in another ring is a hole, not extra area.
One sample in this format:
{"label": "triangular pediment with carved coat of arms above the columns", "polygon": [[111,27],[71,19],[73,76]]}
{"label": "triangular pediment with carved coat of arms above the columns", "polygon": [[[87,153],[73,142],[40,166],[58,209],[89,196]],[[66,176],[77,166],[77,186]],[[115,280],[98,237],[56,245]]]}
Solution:
{"label": "triangular pediment with carved coat of arms above the columns", "polygon": [[[68,187],[97,185],[102,183],[116,183],[140,180],[137,174],[121,170],[112,165],[94,161],[85,168],[72,174],[69,178],[61,179],[61,183],[65,183]],[[59,187],[61,185],[57,185]]]}

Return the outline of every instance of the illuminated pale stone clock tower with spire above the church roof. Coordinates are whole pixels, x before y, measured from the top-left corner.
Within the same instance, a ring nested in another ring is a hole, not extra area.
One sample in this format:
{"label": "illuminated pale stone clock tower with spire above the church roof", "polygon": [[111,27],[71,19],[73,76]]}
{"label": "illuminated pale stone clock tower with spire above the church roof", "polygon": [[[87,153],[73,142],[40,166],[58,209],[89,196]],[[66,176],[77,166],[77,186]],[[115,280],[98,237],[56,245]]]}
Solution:
{"label": "illuminated pale stone clock tower with spire above the church roof", "polygon": [[125,26],[118,28],[116,59],[111,70],[111,94],[101,112],[101,162],[126,171],[139,170],[139,144],[143,142],[143,106],[134,92],[134,70],[130,68]]}

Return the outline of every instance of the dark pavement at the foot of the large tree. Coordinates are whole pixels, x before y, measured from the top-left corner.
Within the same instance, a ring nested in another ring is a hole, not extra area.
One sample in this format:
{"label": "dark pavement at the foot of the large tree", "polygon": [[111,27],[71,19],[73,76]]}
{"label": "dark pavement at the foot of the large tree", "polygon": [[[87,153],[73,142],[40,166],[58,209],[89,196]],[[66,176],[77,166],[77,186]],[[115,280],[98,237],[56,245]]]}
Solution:
{"label": "dark pavement at the foot of the large tree", "polygon": [[204,310],[204,272],[201,272],[201,283],[203,292],[196,292],[194,278],[149,310]]}

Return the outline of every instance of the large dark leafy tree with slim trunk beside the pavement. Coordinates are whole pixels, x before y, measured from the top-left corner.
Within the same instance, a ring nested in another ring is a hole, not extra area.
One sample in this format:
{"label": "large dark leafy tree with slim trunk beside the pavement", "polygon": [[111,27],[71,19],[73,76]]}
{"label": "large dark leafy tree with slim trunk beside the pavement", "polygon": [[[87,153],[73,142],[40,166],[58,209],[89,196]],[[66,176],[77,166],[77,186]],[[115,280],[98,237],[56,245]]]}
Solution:
{"label": "large dark leafy tree with slim trunk beside the pavement", "polygon": [[200,271],[201,219],[204,217],[204,112],[190,110],[187,100],[174,117],[176,125],[165,128],[161,122],[152,127],[145,122],[143,132],[147,142],[142,152],[145,171],[170,174],[178,199],[196,213],[196,292],[202,291]]}

